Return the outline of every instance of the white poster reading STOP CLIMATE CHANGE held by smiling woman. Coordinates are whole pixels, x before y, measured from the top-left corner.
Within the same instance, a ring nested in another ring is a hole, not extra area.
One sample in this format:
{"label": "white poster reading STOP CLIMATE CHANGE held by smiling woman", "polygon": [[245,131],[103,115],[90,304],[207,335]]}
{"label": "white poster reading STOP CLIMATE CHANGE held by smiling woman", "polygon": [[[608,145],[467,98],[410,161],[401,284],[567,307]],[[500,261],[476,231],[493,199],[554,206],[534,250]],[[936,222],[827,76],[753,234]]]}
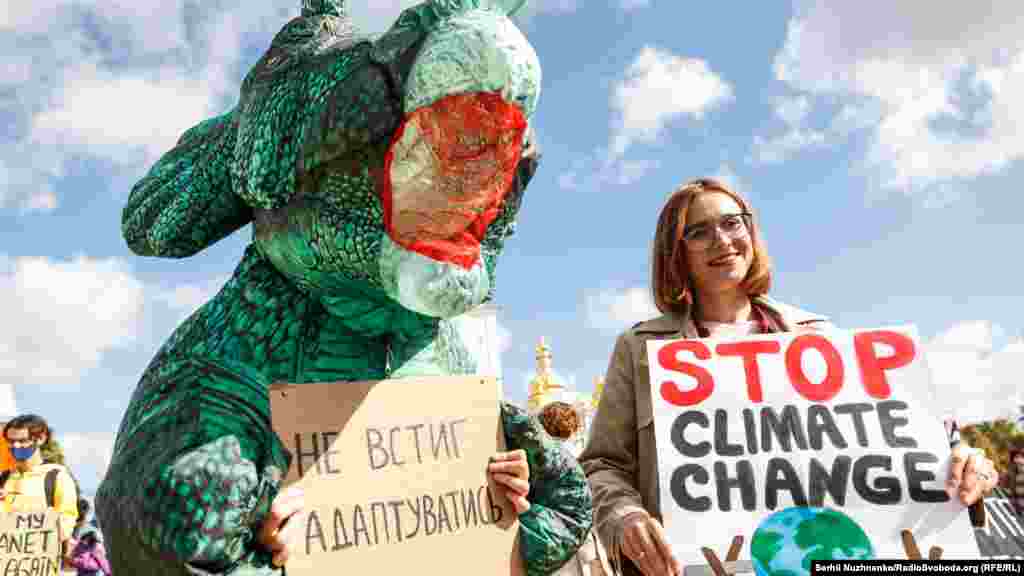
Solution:
{"label": "white poster reading STOP CLIMATE CHANGE held by smiling woman", "polygon": [[945,559],[979,557],[967,508],[944,490],[949,442],[914,328],[647,351],[662,513],[684,564],[737,534],[757,540],[771,515],[822,507],[841,512],[823,523],[866,534],[878,559],[905,558],[903,529]]}

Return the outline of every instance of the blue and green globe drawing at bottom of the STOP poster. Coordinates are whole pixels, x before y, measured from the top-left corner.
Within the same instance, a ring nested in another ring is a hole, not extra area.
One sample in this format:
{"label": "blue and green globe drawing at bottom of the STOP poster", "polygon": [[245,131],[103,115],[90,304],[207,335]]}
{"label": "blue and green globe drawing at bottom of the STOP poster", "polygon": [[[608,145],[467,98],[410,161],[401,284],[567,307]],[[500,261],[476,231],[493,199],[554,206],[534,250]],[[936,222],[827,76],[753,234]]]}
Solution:
{"label": "blue and green globe drawing at bottom of the STOP poster", "polygon": [[833,508],[793,507],[761,522],[751,540],[758,576],[803,576],[812,560],[871,560],[867,534],[850,517]]}

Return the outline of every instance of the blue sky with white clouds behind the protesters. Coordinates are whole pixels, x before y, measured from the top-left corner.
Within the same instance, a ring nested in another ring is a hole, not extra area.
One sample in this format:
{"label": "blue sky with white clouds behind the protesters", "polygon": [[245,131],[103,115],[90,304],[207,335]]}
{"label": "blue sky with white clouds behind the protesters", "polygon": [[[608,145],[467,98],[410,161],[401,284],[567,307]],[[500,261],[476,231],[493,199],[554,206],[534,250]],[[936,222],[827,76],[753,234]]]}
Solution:
{"label": "blue sky with white clouds behind the protesters", "polygon": [[[379,32],[411,3],[351,9]],[[616,332],[653,315],[663,201],[715,175],[753,200],[777,298],[848,328],[916,324],[964,419],[1021,404],[1024,4],[823,4],[542,0],[518,18],[544,69],[544,158],[499,265],[511,399],[542,336],[589,392]],[[122,206],[233,105],[297,5],[0,10],[0,384],[8,411],[50,419],[86,491],[156,347],[250,238],[140,258]]]}

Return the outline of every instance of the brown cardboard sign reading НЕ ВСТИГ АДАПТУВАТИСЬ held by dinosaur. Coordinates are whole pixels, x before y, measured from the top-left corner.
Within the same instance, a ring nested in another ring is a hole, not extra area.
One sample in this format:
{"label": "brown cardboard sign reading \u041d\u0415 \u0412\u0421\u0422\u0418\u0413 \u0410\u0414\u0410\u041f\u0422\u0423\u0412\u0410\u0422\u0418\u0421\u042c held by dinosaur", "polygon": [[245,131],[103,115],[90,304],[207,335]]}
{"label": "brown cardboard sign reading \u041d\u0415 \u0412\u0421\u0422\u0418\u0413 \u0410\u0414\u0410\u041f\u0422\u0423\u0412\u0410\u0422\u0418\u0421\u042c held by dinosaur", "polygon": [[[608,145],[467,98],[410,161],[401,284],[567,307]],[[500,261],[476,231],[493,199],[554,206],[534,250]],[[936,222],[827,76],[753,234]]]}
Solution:
{"label": "brown cardboard sign reading \u041d\u0415 \u0412\u0421\u0422\u0418\u0413 \u0410\u0414\u0410\u041f\u0422\u0423\u0412\u0410\u0422\u0418\u0421\u042c held by dinosaur", "polygon": [[306,503],[288,574],[521,573],[515,511],[486,475],[500,398],[480,376],[271,386]]}

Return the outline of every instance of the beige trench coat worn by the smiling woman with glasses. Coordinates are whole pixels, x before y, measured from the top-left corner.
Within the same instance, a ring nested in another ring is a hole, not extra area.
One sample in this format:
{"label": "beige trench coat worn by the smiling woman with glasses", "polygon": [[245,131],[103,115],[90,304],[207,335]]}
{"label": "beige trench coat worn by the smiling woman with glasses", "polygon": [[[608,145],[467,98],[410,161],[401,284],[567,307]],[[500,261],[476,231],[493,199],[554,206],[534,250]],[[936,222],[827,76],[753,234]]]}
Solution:
{"label": "beige trench coat worn by the smiling woman with glasses", "polygon": [[[765,296],[755,297],[754,305],[764,313],[773,332],[830,326],[825,317]],[[698,337],[693,321],[671,316],[641,322],[618,336],[590,441],[579,458],[593,492],[594,524],[616,575],[640,575],[621,553],[623,519],[643,509],[662,520],[657,447],[644,343],[684,337]]]}

